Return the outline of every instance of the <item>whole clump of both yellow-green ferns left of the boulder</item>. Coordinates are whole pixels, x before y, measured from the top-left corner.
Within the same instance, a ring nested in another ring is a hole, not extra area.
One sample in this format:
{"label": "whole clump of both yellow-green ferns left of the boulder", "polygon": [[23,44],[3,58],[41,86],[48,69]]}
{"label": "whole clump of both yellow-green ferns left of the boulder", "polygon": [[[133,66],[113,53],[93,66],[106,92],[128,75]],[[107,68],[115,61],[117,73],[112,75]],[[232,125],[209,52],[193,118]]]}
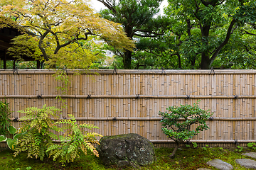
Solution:
{"label": "whole clump of both yellow-green ferns left of the boulder", "polygon": [[[26,108],[21,113],[26,113],[26,116],[21,118],[24,122],[18,130],[20,137],[17,141],[14,157],[20,152],[28,152],[28,157],[43,159],[45,157],[53,157],[53,160],[58,159],[59,162],[65,164],[73,162],[76,157],[79,157],[78,149],[87,154],[89,149],[95,156],[99,156],[92,143],[99,144],[96,136],[102,136],[95,132],[83,131],[82,128],[92,129],[97,128],[95,125],[82,124],[78,125],[74,116],[69,115],[70,119],[59,120],[54,123],[50,119],[59,118],[60,109],[55,107],[43,108]],[[64,125],[58,128],[58,125]],[[54,132],[63,132],[64,135],[55,135]],[[53,140],[60,140],[60,144],[54,143]]]}

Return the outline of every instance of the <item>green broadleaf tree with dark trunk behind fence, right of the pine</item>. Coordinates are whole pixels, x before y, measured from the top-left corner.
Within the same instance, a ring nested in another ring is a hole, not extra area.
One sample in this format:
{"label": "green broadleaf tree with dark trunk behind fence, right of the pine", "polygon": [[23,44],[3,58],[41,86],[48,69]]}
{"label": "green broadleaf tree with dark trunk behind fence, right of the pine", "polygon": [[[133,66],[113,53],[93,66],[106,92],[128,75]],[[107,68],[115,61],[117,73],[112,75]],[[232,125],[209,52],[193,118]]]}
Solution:
{"label": "green broadleaf tree with dark trunk behind fence, right of the pine", "polygon": [[169,0],[169,54],[160,60],[179,69],[254,69],[255,8],[255,1]]}

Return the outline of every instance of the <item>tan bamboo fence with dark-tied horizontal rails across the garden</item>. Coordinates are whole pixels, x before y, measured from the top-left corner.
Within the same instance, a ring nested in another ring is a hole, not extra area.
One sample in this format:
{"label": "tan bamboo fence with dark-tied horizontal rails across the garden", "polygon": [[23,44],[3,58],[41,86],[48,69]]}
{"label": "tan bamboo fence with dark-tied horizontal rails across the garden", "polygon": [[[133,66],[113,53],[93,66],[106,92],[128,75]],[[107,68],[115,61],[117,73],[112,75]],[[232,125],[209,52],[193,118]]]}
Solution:
{"label": "tan bamboo fence with dark-tied horizontal rails across the garden", "polygon": [[[75,115],[78,123],[91,123],[102,135],[138,133],[156,147],[174,142],[161,131],[159,111],[193,104],[213,112],[210,128],[193,137],[199,146],[235,147],[256,142],[255,70],[68,70],[68,91],[55,80],[54,70],[0,70],[0,100],[10,103],[11,119],[18,111],[44,104],[62,108],[62,118]],[[20,122],[12,122],[18,127]],[[196,128],[196,126],[193,126]],[[0,145],[1,147],[1,145]]]}

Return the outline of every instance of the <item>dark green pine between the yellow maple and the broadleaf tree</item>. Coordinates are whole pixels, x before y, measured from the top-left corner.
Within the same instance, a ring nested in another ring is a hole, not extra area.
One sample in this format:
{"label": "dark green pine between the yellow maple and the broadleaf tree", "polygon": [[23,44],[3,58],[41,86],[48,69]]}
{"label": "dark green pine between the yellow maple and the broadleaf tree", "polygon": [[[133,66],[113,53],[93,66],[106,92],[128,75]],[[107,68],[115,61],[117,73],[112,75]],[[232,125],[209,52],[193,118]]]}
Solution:
{"label": "dark green pine between the yellow maple and the broadleaf tree", "polygon": [[[151,67],[151,57],[147,59],[148,49],[151,47],[162,48],[164,43],[154,38],[162,35],[169,25],[168,18],[154,17],[159,12],[159,6],[163,0],[98,1],[107,7],[100,11],[102,17],[121,23],[127,37],[137,42],[134,52],[118,50],[112,46],[112,51],[123,59],[122,61],[117,60],[117,62],[122,62],[122,69],[148,69]],[[119,66],[119,64],[117,65]]]}

